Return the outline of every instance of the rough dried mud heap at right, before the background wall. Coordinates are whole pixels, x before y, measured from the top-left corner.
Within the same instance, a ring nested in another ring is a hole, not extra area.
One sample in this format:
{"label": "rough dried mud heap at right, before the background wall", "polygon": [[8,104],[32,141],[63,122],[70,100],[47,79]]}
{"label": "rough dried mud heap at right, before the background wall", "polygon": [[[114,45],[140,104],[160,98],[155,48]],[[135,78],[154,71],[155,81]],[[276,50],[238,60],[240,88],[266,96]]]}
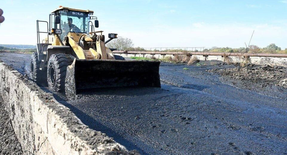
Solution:
{"label": "rough dried mud heap at right, before the background wall", "polygon": [[286,91],[287,88],[287,68],[282,66],[260,66],[249,63],[245,67],[206,71],[221,75],[223,77],[221,80],[226,80],[231,85],[256,92]]}

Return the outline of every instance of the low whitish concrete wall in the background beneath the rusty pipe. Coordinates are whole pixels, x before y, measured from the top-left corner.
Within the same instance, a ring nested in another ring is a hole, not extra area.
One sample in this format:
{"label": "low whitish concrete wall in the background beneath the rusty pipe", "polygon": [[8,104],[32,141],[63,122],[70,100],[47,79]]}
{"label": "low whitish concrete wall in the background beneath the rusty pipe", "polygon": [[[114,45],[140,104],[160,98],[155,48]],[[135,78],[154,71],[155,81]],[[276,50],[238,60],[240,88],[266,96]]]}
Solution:
{"label": "low whitish concrete wall in the background beneath the rusty pipe", "polygon": [[[174,57],[174,55],[161,55],[161,54],[116,54],[120,55],[122,57],[155,57],[157,59],[162,59],[164,57]],[[203,55],[194,55],[196,56],[199,60],[220,60],[220,61],[230,61],[233,63],[241,63],[245,60],[243,57],[237,57],[237,56],[228,56],[228,57],[222,57],[222,56],[213,56],[209,55],[208,57],[204,57]],[[278,65],[278,66],[287,66],[287,58],[284,57],[249,57],[248,60],[251,63],[258,64],[258,65]]]}

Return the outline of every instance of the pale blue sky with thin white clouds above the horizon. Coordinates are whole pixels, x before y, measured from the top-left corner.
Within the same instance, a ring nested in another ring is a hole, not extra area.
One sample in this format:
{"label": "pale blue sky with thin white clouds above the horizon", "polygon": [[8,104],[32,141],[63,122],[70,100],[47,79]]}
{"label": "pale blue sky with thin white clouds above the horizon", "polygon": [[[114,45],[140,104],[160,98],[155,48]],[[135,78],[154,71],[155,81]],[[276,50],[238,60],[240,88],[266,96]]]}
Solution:
{"label": "pale blue sky with thin white clouds above the horizon", "polygon": [[59,5],[95,11],[96,30],[128,37],[140,47],[238,48],[255,30],[251,44],[287,48],[287,0],[2,1],[0,44],[34,45],[36,20],[47,21]]}

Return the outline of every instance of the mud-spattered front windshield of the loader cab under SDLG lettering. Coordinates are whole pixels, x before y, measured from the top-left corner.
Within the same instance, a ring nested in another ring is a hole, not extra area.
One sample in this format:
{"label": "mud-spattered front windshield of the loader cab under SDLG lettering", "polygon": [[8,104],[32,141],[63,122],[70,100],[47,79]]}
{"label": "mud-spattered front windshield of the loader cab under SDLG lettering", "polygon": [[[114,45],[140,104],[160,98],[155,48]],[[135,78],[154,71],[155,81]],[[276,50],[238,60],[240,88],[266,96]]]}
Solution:
{"label": "mud-spattered front windshield of the loader cab under SDLG lettering", "polygon": [[77,34],[87,33],[88,31],[88,13],[68,10],[60,11],[62,29],[61,39],[67,36],[68,32]]}

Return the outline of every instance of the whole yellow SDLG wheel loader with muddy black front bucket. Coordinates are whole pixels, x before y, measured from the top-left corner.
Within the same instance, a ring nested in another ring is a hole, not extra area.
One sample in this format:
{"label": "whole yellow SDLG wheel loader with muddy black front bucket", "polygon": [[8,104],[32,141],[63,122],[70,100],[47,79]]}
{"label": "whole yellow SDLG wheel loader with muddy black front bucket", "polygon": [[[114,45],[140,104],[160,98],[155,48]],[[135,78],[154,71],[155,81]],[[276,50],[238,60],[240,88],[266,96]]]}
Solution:
{"label": "whole yellow SDLG wheel loader with muddy black front bucket", "polygon": [[[125,60],[113,55],[93,11],[60,6],[49,22],[37,20],[37,52],[31,57],[30,78],[69,98],[86,89],[119,86],[160,87],[160,61]],[[94,25],[91,20],[94,20]],[[40,31],[40,24],[47,31]],[[40,40],[40,34],[47,34]]]}

